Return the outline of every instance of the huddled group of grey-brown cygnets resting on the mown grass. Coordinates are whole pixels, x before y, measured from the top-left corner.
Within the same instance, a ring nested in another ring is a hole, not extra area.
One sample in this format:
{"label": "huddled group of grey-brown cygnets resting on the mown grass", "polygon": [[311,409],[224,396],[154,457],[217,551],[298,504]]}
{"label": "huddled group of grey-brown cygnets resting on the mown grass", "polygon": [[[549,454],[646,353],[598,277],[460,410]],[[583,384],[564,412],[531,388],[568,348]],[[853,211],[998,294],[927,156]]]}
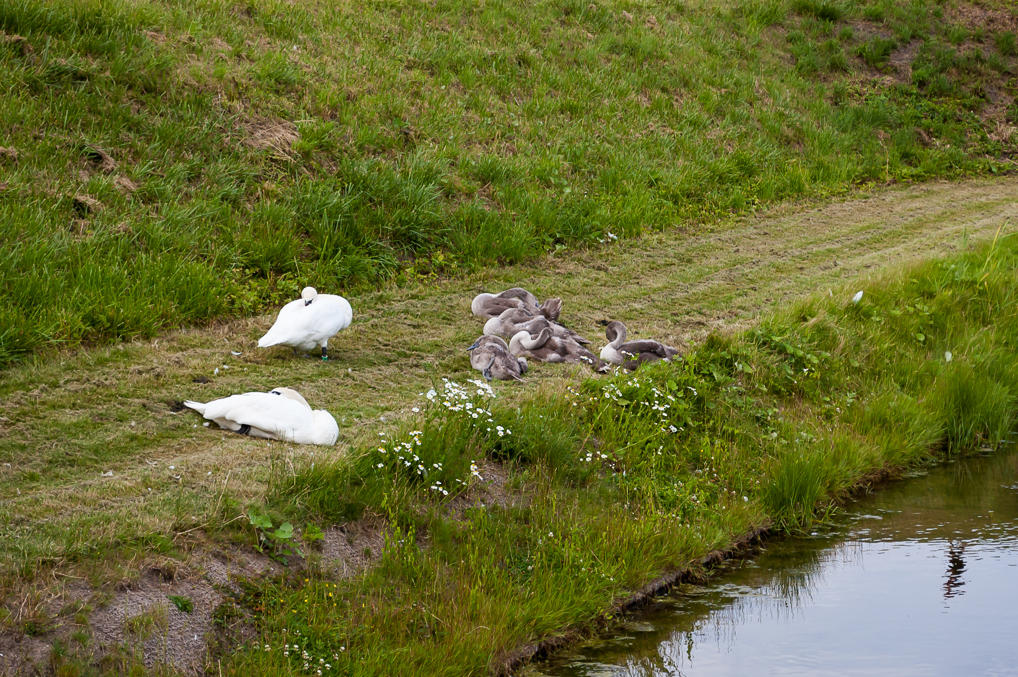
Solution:
{"label": "huddled group of grey-brown cygnets resting on the mown grass", "polygon": [[527,371],[527,359],[585,363],[597,372],[607,372],[613,364],[633,370],[678,352],[660,341],[626,341],[626,326],[615,320],[605,328],[608,344],[598,357],[586,348],[589,341],[559,323],[561,298],[542,303],[521,287],[477,294],[470,312],[487,320],[483,335],[467,350],[470,366],[488,380],[519,381]]}

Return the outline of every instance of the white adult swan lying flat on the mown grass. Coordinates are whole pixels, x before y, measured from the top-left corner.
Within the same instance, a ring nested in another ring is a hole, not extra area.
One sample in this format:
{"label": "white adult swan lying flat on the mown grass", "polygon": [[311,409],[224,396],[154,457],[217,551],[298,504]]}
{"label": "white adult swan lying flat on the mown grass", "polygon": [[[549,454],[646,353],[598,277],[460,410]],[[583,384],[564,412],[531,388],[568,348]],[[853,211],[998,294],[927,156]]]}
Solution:
{"label": "white adult swan lying flat on the mown grass", "polygon": [[266,440],[333,445],[339,438],[339,426],[332,414],[324,409],[312,410],[300,393],[290,388],[230,395],[205,403],[187,400],[184,406],[220,428]]}

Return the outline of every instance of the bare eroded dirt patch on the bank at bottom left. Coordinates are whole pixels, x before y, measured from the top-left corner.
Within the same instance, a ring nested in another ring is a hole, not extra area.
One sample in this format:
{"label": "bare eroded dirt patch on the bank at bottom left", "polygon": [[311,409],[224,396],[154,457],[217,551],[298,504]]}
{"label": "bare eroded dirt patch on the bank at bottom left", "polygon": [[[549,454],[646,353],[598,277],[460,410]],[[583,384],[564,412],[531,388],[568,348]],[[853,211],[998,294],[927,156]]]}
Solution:
{"label": "bare eroded dirt patch on the bank at bottom left", "polygon": [[83,578],[37,587],[8,623],[38,629],[0,633],[0,674],[47,674],[56,642],[78,662],[114,670],[144,665],[206,674],[209,647],[221,632],[216,614],[239,593],[237,581],[281,569],[252,551],[221,549],[192,553],[186,562],[153,560],[136,578],[101,587]]}

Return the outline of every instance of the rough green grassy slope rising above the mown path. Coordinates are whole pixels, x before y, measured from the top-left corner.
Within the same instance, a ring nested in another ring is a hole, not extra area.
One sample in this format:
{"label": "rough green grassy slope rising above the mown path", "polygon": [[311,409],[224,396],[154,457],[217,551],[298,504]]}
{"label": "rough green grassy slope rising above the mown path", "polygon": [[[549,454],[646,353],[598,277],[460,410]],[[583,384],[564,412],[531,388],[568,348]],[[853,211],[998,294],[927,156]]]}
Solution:
{"label": "rough green grassy slope rising above the mown path", "polygon": [[0,365],[1012,167],[1008,0],[0,5]]}

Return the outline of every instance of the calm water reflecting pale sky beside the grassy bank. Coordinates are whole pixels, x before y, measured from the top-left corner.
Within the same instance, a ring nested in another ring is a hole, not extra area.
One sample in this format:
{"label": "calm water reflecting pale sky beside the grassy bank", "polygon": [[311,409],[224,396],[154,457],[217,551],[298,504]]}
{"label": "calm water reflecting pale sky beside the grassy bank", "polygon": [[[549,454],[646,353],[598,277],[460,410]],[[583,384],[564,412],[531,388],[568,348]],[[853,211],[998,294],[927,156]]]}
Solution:
{"label": "calm water reflecting pale sky beside the grassy bank", "polygon": [[896,483],[528,675],[1018,675],[1018,453]]}

